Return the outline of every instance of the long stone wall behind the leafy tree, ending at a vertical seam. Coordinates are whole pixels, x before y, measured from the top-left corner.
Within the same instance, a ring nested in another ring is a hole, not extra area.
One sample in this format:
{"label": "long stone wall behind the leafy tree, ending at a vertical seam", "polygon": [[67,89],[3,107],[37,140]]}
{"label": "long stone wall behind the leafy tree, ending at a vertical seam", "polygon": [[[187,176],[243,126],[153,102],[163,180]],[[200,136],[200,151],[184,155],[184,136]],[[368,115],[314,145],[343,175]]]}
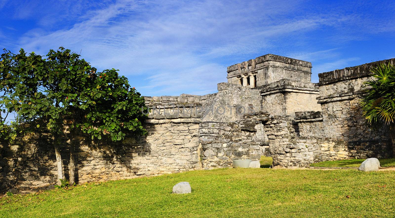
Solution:
{"label": "long stone wall behind the leafy tree, ending at a vertical seam", "polygon": [[[215,96],[215,95],[214,95]],[[128,179],[138,176],[177,173],[201,169],[199,160],[199,123],[204,110],[195,113],[183,108],[210,101],[206,96],[147,97],[151,111],[146,120],[148,134],[127,137],[120,142],[92,141],[80,135],[76,148],[76,175],[79,183]],[[166,114],[164,111],[167,111]],[[184,112],[184,113],[181,113]],[[188,113],[186,113],[188,112]],[[0,192],[27,193],[53,188],[57,166],[52,137],[30,134],[13,143],[0,144]],[[70,158],[67,141],[62,143],[64,173],[68,178]]]}

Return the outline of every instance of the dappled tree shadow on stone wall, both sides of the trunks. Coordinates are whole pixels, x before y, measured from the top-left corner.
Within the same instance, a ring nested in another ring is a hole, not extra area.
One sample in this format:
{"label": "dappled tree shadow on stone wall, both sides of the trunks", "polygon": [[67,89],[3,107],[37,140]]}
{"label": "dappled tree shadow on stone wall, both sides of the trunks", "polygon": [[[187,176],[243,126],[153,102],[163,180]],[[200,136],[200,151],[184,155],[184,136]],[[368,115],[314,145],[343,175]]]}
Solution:
{"label": "dappled tree shadow on stone wall, both sides of the trunks", "polygon": [[[79,137],[81,145],[75,149],[75,180],[79,182],[135,176],[139,169],[131,161],[150,153],[146,137],[128,138],[122,142]],[[64,177],[68,180],[69,149],[70,145],[63,139],[61,155]],[[56,182],[55,150],[49,134],[29,133],[11,143],[1,142],[0,194],[48,190],[54,188]]]}

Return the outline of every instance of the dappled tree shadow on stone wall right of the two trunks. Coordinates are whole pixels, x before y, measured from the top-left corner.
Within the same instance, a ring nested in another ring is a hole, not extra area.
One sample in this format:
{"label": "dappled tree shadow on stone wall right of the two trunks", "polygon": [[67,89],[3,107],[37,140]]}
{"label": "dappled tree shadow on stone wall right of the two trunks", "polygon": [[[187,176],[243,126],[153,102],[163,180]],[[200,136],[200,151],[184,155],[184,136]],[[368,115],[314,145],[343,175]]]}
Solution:
{"label": "dappled tree shadow on stone wall right of the two trunks", "polygon": [[[121,179],[143,175],[143,166],[134,162],[151,153],[147,136],[127,135],[123,141],[90,140],[85,137],[78,149],[76,173],[79,182]],[[88,146],[89,145],[89,146]],[[136,161],[138,162],[138,160]]]}

